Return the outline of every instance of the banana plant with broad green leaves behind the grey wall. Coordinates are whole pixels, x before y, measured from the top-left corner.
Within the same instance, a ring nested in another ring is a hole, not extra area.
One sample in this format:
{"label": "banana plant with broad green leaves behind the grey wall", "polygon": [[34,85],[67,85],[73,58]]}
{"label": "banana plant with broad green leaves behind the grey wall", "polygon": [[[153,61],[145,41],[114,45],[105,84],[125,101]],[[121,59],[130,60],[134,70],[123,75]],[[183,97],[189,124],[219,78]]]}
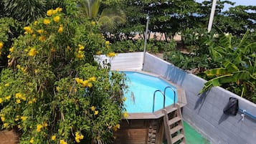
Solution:
{"label": "banana plant with broad green leaves behind the grey wall", "polygon": [[249,34],[247,31],[238,43],[234,43],[232,34],[224,33],[207,42],[212,59],[219,62],[220,67],[204,72],[209,81],[199,93],[224,85],[227,90],[235,89],[241,97],[246,94],[251,99],[255,95],[256,42],[247,39]]}

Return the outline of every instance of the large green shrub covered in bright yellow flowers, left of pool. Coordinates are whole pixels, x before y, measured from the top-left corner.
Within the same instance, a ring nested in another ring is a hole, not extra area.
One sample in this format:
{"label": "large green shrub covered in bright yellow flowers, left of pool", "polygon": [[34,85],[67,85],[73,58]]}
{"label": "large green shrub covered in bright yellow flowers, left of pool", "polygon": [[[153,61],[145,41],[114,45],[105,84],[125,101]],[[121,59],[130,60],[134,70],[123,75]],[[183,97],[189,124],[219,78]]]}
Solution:
{"label": "large green shrub covered in bright yellow flowers, left of pool", "polygon": [[61,11],[24,27],[10,47],[1,128],[18,129],[26,144],[110,143],[124,110],[123,75],[95,63],[95,54],[115,56],[97,25]]}

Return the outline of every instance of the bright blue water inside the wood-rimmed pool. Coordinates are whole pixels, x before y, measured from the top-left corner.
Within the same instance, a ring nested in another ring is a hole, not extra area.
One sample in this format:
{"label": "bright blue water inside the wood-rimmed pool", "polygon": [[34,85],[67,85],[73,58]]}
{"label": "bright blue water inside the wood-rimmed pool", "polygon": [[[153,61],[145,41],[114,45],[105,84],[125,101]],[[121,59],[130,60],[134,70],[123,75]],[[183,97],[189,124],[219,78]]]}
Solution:
{"label": "bright blue water inside the wood-rimmed pool", "polygon": [[[128,92],[125,93],[126,101],[125,108],[127,112],[152,112],[153,110],[153,93],[156,90],[164,91],[165,87],[176,87],[165,82],[158,77],[145,75],[139,72],[124,72],[127,77],[126,85],[128,85]],[[177,97],[175,99],[177,102]],[[174,103],[174,92],[170,88],[166,89],[165,105],[172,105]],[[161,92],[156,92],[154,111],[163,108],[163,95]]]}

